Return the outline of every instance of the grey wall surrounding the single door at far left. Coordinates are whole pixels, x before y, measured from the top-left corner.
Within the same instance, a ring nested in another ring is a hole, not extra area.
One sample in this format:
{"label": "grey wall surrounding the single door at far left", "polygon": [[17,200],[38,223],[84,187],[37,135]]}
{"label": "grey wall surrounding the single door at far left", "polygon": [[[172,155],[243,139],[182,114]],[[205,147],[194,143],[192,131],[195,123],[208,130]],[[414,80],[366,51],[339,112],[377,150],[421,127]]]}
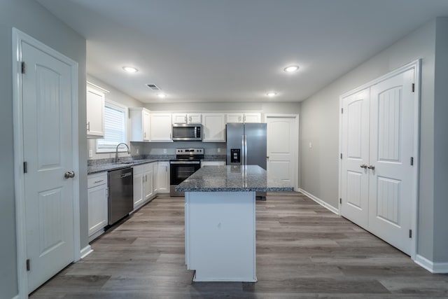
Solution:
{"label": "grey wall surrounding the single door at far left", "polygon": [[[0,298],[13,298],[18,294],[14,151],[13,151],[13,70],[12,29],[38,39],[59,53],[78,62],[78,81],[85,82],[85,39],[57,20],[33,0],[0,1]],[[79,145],[85,148],[85,85],[78,88]],[[80,210],[81,248],[87,245],[87,155],[80,151]],[[84,234],[82,232],[85,232]]]}

